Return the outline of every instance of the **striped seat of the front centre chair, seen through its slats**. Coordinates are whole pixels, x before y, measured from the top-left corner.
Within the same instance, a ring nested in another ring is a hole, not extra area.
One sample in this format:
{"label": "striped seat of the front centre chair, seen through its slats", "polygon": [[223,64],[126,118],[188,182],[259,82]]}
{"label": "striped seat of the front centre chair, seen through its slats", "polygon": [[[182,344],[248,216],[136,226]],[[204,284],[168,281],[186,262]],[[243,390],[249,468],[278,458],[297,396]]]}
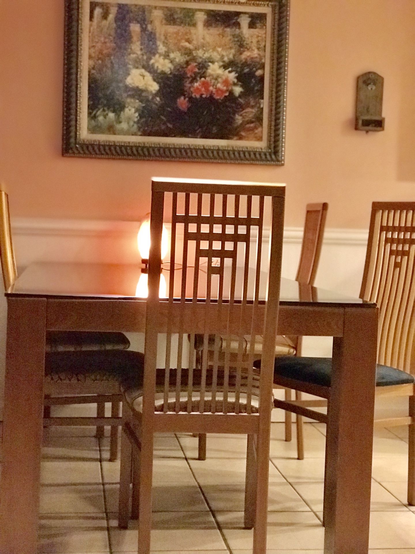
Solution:
{"label": "striped seat of the front centre chair, seen through its slats", "polygon": [[[175,411],[175,389],[176,389],[176,370],[170,370],[169,374],[169,395],[168,395],[168,406],[167,411]],[[159,369],[156,374],[156,385],[155,385],[155,412],[164,411],[164,378],[165,370]],[[227,399],[226,410],[227,413],[235,413],[235,378],[236,374],[230,372],[229,375],[229,395]],[[191,397],[191,406],[188,410],[188,394],[185,390],[189,382],[189,371],[186,369],[181,370],[181,386],[183,391],[180,393],[179,399],[179,412],[199,412],[199,400],[200,400],[200,384],[201,384],[201,371],[193,370],[192,373],[192,397]],[[258,396],[259,396],[259,378],[258,372],[253,373],[253,382],[254,386],[252,388],[252,400],[251,400],[251,412],[258,413]],[[212,411],[212,394],[211,394],[211,385],[212,385],[212,372],[208,371],[206,375],[206,392],[205,392],[205,402],[204,402],[204,413]],[[257,385],[257,387],[255,387]],[[214,407],[214,412],[222,412],[224,408],[224,395],[223,395],[223,386],[224,378],[223,371],[219,370],[217,372],[217,386],[216,386],[216,406]],[[126,402],[129,407],[136,412],[142,411],[142,397],[143,397],[143,379],[142,375],[136,375],[133,379],[129,379],[127,376],[122,383],[122,391],[124,393]],[[240,396],[240,405],[239,413],[246,413],[247,401],[246,401],[246,375],[242,375],[241,378],[241,396]]]}

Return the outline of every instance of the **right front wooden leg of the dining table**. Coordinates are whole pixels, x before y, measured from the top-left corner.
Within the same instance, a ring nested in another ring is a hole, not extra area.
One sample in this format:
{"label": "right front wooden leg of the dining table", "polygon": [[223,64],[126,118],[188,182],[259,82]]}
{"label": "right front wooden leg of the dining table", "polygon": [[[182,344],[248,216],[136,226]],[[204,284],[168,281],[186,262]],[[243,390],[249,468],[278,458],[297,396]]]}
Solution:
{"label": "right front wooden leg of the dining table", "polygon": [[377,309],[345,309],[333,341],[327,425],[325,554],[367,554],[375,407]]}

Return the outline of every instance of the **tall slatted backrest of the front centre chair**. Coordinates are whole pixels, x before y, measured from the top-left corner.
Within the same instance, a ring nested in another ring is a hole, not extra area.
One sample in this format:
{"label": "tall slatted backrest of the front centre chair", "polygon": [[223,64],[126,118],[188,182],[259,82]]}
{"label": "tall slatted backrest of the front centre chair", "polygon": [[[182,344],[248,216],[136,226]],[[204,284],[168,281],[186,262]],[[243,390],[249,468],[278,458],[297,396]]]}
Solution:
{"label": "tall slatted backrest of the front centre chair", "polygon": [[[253,416],[261,414],[263,404],[266,411],[271,409],[284,193],[284,186],[274,184],[153,179],[143,416],[155,411],[176,416],[190,412],[210,417],[241,412]],[[168,297],[159,299],[167,204],[172,222]],[[267,235],[269,249],[263,248]],[[165,343],[160,340],[163,333]],[[195,334],[204,340],[203,364],[197,369]],[[227,344],[231,336],[236,337],[236,361],[230,364],[227,351],[219,366],[217,338],[214,361],[208,366],[212,335],[225,337]],[[261,377],[252,368],[255,340],[248,363],[242,355],[246,335],[263,335]],[[158,383],[158,409],[155,360],[158,348],[160,352],[163,347],[164,381]],[[258,408],[253,396],[266,401]]]}

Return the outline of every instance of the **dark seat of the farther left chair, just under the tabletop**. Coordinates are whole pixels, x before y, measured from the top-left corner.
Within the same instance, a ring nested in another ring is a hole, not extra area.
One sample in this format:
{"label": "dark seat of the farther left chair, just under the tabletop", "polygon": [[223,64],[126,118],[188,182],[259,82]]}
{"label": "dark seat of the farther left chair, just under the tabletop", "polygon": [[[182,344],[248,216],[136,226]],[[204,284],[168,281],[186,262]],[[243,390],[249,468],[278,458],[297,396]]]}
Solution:
{"label": "dark seat of the farther left chair, just under the tabletop", "polygon": [[127,350],[130,342],[123,333],[107,331],[48,331],[46,352],[79,350]]}

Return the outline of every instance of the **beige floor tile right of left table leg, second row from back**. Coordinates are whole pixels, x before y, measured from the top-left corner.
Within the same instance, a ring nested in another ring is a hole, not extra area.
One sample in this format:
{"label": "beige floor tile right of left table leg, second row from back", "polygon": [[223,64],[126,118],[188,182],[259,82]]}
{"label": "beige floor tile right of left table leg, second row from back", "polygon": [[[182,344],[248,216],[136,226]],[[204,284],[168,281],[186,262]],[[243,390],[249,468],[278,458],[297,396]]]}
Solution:
{"label": "beige floor tile right of left table leg, second row from back", "polygon": [[99,461],[43,461],[40,482],[45,485],[62,483],[101,483]]}

